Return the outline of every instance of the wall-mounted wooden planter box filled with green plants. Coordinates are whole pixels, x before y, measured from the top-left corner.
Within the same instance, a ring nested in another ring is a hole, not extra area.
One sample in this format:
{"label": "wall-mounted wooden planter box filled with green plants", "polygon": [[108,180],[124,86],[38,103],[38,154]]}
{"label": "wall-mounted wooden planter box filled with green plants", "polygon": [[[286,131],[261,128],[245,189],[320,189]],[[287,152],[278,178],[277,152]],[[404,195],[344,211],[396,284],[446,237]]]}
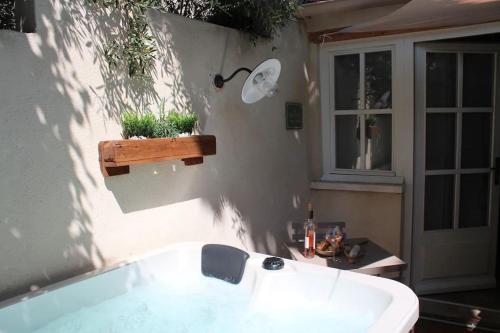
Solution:
{"label": "wall-mounted wooden planter box filled with green plants", "polygon": [[101,141],[99,161],[105,177],[127,174],[132,164],[181,159],[185,165],[203,163],[203,156],[215,155],[213,135],[192,135],[196,114],[129,110],[122,114],[124,140]]}

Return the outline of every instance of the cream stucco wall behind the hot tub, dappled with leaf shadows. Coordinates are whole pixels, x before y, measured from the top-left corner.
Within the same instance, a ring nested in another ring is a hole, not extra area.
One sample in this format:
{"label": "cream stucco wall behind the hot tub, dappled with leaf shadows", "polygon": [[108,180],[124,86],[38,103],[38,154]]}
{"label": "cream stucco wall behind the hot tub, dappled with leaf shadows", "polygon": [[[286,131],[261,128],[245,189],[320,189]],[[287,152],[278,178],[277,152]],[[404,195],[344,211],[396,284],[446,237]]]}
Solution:
{"label": "cream stucco wall behind the hot tub, dappled with leaf shadows", "polygon": [[[154,82],[141,86],[108,74],[99,48],[118,27],[87,3],[36,1],[37,33],[0,31],[0,299],[173,242],[279,254],[309,200],[306,130],[287,131],[284,119],[285,101],[307,105],[300,26],[254,46],[235,30],[152,13],[160,52]],[[244,105],[243,74],[223,91],[211,85],[270,57],[283,68],[275,98]],[[217,155],[104,179],[98,142],[120,138],[127,104],[162,98],[200,116]]]}

